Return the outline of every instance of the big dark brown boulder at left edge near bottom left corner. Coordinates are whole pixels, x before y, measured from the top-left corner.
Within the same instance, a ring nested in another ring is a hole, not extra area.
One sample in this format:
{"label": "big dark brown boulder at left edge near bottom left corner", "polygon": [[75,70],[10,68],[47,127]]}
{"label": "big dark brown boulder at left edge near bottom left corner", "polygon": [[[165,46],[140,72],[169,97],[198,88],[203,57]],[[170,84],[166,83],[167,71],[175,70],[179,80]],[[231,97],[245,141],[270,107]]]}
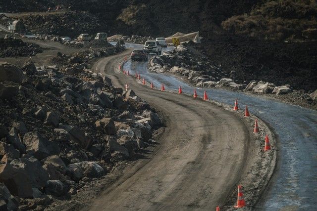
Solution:
{"label": "big dark brown boulder at left edge near bottom left corner", "polygon": [[0,182],[5,184],[13,196],[33,197],[31,181],[26,170],[12,166],[4,157],[0,164]]}

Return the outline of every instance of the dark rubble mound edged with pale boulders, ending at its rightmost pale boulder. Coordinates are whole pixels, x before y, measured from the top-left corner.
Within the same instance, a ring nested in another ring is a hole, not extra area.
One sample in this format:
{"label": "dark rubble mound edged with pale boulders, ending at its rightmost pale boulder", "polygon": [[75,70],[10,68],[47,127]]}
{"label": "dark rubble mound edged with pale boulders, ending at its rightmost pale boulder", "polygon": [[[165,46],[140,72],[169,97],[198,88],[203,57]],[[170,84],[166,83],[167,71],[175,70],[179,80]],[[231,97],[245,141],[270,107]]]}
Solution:
{"label": "dark rubble mound edged with pale boulders, ending at its rightmost pale boulder", "polygon": [[188,80],[199,87],[229,88],[232,90],[253,91],[256,93],[286,94],[291,92],[290,85],[275,86],[268,82],[251,81],[250,84],[237,84],[231,78],[236,72],[228,74],[215,66],[208,59],[199,54],[191,46],[178,45],[172,51],[152,57],[149,61],[149,70],[157,73],[172,73]]}

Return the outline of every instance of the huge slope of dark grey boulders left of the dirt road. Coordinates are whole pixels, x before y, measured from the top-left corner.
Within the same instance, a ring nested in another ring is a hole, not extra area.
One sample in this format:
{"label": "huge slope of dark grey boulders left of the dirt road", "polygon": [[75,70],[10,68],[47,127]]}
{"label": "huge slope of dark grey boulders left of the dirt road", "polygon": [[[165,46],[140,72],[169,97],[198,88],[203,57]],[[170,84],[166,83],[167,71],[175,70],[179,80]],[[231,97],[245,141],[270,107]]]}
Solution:
{"label": "huge slope of dark grey boulders left of the dirt road", "polygon": [[69,199],[117,162],[135,159],[160,125],[132,90],[87,67],[1,62],[1,210],[43,210]]}

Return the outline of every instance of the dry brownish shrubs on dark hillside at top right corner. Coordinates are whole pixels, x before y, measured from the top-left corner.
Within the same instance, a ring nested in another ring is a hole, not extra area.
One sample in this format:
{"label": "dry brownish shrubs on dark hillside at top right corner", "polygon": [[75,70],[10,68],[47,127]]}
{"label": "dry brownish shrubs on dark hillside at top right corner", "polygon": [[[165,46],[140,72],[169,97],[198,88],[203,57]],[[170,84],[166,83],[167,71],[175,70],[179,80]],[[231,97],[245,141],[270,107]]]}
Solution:
{"label": "dry brownish shrubs on dark hillside at top right corner", "polygon": [[249,14],[228,18],[222,22],[222,28],[269,40],[314,39],[305,31],[317,28],[317,3],[310,0],[268,1]]}

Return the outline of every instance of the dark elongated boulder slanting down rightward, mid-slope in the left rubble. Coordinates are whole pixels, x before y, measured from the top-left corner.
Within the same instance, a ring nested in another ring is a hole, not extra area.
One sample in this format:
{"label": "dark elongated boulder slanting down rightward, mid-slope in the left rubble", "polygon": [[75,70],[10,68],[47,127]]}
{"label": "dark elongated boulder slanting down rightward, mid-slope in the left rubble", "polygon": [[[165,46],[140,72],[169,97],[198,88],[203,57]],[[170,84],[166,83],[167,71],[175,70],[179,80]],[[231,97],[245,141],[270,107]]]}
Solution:
{"label": "dark elongated boulder slanting down rightward, mid-slope in the left rubble", "polygon": [[77,126],[62,125],[60,127],[70,134],[71,140],[78,143],[82,148],[88,149],[92,141],[91,136],[86,134]]}

